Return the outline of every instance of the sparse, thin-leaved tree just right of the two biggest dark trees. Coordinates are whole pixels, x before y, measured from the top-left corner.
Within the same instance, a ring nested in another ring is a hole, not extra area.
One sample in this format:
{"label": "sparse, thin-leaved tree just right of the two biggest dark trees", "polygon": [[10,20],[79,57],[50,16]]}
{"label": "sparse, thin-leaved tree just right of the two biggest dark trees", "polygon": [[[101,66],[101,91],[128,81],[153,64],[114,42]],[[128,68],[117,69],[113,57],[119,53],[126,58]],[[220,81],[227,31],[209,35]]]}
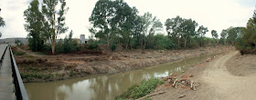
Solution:
{"label": "sparse, thin-leaved tree just right of the two biggest dark trees", "polygon": [[141,39],[142,53],[144,53],[144,48],[150,41],[150,38],[155,35],[155,33],[163,28],[163,24],[160,22],[156,16],[153,17],[150,13],[145,13],[142,16],[143,24],[143,35]]}

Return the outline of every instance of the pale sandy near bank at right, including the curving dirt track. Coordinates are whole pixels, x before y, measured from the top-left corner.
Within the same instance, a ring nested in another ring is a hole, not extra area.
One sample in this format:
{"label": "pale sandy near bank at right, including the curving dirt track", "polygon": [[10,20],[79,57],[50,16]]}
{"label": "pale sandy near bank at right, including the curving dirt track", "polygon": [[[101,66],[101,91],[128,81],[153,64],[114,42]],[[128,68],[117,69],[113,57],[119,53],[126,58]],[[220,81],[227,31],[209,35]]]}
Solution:
{"label": "pale sandy near bank at right, including the curving dirt track", "polygon": [[[151,97],[153,100],[195,99],[195,100],[251,100],[256,95],[256,55],[240,55],[230,52],[208,58],[199,65],[194,65],[182,75],[175,76],[178,80],[193,81],[196,90],[179,84],[172,87],[167,81],[158,86],[154,93],[165,92],[163,95]],[[169,76],[174,77],[174,76]],[[164,77],[163,79],[168,78]]]}

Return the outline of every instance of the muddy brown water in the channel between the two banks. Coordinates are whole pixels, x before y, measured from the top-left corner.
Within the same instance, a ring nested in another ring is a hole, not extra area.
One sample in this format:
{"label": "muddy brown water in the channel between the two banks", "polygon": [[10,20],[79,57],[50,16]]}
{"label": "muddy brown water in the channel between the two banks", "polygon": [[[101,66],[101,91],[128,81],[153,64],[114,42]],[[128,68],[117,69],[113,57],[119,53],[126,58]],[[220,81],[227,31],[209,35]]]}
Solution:
{"label": "muddy brown water in the channel between the two banks", "polygon": [[214,55],[187,58],[113,75],[90,75],[47,83],[26,83],[29,100],[112,100],[128,87],[151,77],[162,77],[186,71],[190,65]]}

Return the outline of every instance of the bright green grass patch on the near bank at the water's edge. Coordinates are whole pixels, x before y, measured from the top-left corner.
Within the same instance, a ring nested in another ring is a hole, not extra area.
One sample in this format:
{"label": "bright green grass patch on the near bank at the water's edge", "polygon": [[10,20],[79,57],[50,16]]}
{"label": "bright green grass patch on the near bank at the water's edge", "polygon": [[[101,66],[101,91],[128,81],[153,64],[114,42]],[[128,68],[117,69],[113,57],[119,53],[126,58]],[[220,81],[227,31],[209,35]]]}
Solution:
{"label": "bright green grass patch on the near bank at the water's edge", "polygon": [[131,86],[122,95],[116,96],[115,100],[138,99],[144,95],[148,95],[157,85],[162,84],[164,84],[162,80],[159,80],[158,78],[151,78],[147,81],[141,82],[140,85]]}

